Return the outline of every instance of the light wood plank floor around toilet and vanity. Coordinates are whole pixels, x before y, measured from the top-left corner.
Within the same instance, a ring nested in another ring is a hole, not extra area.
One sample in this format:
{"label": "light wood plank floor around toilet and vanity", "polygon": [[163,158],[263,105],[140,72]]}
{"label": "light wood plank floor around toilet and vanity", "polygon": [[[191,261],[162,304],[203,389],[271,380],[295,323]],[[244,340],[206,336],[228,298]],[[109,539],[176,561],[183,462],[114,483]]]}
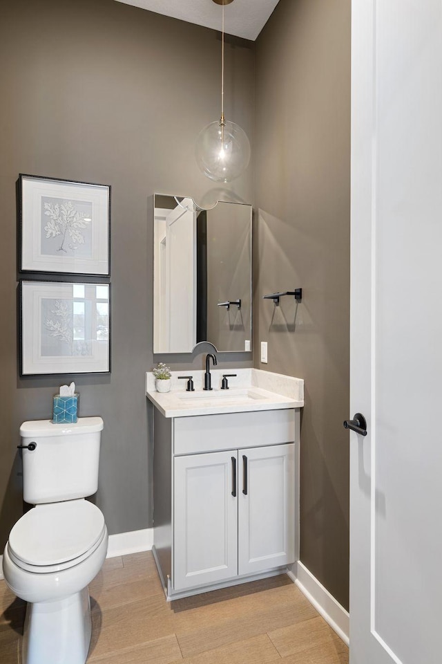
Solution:
{"label": "light wood plank floor around toilet and vanity", "polygon": [[[286,575],[167,603],[147,552],[106,560],[89,591],[90,664],[348,663],[347,646]],[[18,664],[24,605],[4,581],[0,612],[1,664]]]}

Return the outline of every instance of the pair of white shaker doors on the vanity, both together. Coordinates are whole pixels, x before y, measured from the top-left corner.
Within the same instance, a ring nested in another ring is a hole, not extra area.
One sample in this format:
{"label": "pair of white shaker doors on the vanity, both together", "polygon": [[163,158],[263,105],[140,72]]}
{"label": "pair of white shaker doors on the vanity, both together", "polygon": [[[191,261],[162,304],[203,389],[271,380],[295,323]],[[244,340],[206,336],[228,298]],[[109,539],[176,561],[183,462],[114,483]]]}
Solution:
{"label": "pair of white shaker doors on the vanity, both together", "polygon": [[294,443],[175,457],[174,475],[175,590],[294,562]]}

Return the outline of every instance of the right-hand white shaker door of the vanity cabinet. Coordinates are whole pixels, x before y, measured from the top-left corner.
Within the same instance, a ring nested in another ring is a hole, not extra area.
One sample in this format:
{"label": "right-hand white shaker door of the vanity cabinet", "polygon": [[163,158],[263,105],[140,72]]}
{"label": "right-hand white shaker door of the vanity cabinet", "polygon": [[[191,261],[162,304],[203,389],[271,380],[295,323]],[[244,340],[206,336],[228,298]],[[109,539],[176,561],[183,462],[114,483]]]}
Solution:
{"label": "right-hand white shaker door of the vanity cabinet", "polygon": [[295,561],[294,443],[238,452],[238,573]]}

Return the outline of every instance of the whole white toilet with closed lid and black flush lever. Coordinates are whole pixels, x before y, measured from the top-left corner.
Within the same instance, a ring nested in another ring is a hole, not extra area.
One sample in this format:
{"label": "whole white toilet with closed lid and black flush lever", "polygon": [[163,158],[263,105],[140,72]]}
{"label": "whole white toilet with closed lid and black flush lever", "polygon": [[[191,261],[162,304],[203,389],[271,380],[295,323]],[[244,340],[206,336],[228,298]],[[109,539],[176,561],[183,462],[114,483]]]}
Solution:
{"label": "whole white toilet with closed lid and black flush lever", "polygon": [[25,422],[23,499],[30,509],[9,535],[3,575],[28,602],[22,664],[84,664],[91,634],[88,584],[104,563],[108,532],[85,500],[98,486],[101,417],[75,424]]}

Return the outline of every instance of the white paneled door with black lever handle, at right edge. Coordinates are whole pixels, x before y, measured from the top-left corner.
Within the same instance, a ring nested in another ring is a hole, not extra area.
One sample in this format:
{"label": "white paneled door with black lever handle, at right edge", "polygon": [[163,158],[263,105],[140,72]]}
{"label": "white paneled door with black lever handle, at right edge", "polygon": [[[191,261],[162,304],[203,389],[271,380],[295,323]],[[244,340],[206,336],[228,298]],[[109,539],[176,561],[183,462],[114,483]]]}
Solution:
{"label": "white paneled door with black lever handle, at right edge", "polygon": [[442,661],[442,3],[352,2],[350,663]]}

